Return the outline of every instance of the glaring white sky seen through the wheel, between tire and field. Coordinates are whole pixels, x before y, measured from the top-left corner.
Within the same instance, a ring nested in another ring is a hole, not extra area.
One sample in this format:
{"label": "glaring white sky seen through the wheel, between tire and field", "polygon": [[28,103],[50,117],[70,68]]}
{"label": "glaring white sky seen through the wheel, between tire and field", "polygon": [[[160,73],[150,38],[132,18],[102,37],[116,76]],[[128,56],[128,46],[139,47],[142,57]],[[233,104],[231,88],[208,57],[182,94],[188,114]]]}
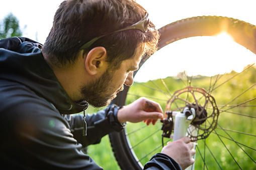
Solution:
{"label": "glaring white sky seen through the wheel, between tire and field", "polygon": [[214,76],[241,72],[255,63],[255,54],[232,41],[222,32],[213,37],[192,37],[171,43],[152,55],[135,76],[135,81],[177,76],[187,71],[189,76]]}

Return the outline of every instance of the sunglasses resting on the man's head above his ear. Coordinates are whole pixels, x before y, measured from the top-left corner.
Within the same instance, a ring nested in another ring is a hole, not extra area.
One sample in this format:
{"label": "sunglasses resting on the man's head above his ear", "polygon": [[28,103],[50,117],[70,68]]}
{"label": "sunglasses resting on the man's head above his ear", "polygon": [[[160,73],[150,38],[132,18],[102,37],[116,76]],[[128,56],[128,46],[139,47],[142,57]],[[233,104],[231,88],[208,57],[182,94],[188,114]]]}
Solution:
{"label": "sunglasses resting on the man's head above his ear", "polygon": [[139,22],[137,22],[131,26],[125,27],[123,29],[96,37],[93,40],[91,40],[91,41],[87,42],[86,44],[84,44],[83,46],[81,46],[80,50],[89,48],[94,42],[96,42],[97,40],[99,40],[100,38],[102,38],[104,36],[107,36],[107,35],[110,35],[113,33],[117,33],[120,31],[137,29],[137,30],[140,30],[142,33],[145,33],[147,31],[148,24],[149,24],[148,13],[146,13],[145,17],[142,20],[140,20]]}

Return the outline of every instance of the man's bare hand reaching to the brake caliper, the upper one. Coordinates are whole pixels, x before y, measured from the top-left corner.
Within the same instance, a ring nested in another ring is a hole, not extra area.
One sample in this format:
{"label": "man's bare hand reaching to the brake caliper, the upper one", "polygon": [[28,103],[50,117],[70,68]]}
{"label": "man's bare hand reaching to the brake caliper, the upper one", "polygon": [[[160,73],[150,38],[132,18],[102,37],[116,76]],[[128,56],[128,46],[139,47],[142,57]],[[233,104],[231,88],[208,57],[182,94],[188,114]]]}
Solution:
{"label": "man's bare hand reaching to the brake caliper, the upper one", "polygon": [[144,97],[139,98],[117,112],[117,119],[120,123],[126,121],[137,123],[143,120],[149,125],[151,122],[155,124],[159,118],[163,118],[161,106]]}

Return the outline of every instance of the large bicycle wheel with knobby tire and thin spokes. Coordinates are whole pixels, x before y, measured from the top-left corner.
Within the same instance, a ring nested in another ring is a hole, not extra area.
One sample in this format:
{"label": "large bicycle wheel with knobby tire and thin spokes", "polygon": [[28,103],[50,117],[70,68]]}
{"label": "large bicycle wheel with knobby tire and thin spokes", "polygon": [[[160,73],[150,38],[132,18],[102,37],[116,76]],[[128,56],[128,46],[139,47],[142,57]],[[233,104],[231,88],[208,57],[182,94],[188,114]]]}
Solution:
{"label": "large bicycle wheel with knobby tire and thin spokes", "polygon": [[[160,28],[161,36],[158,51],[160,53],[162,50],[168,50],[170,53],[175,50],[176,46],[179,46],[181,41],[193,43],[194,38],[191,37],[210,36],[212,40],[215,40],[213,36],[223,31],[229,34],[238,46],[241,45],[248,49],[244,49],[246,53],[251,51],[252,53],[249,53],[256,54],[256,27],[254,25],[232,18],[216,16],[188,18]],[[219,39],[216,41],[217,45],[221,43]],[[226,45],[223,46],[225,48]],[[185,51],[186,49],[189,49],[189,45],[184,47]],[[199,49],[195,50],[200,51],[200,45]],[[151,63],[155,63],[155,55],[150,57],[150,60],[153,60]],[[228,53],[225,53],[224,56],[221,56],[217,65],[212,63],[214,60],[218,60],[215,59],[216,56],[196,59],[197,54],[191,54],[182,57],[181,61],[176,61],[178,57],[171,56],[171,54],[157,56],[157,60],[162,61],[159,68],[155,68],[157,66],[154,64],[149,67],[160,78],[152,77],[153,80],[146,82],[134,82],[130,88],[125,87],[124,91],[119,93],[113,102],[117,105],[125,105],[143,96],[158,102],[164,110],[167,100],[172,97],[175,91],[186,86],[204,88],[215,98],[220,113],[217,127],[207,138],[197,141],[196,169],[253,169],[256,167],[256,149],[254,146],[256,128],[253,127],[256,123],[256,68],[253,60],[255,62],[256,58],[252,59],[252,63],[248,61],[249,63],[243,64],[244,69],[239,73],[231,70],[219,74],[215,73],[222,63],[224,63],[223,67],[227,68],[228,65],[232,67],[234,60],[241,61],[239,63],[244,61],[242,56],[239,59],[232,58],[225,61],[227,55]],[[143,72],[143,69],[149,64],[148,58],[148,56],[143,58],[140,69],[135,74],[148,75],[148,72]],[[187,70],[185,68],[186,72],[179,73],[179,76],[170,73],[175,65],[182,68],[184,62],[191,63],[192,69]],[[211,68],[212,65],[213,68]],[[168,71],[163,70],[161,72],[162,68],[166,67],[169,70],[169,76],[166,76]],[[193,69],[198,67],[205,72],[208,69],[210,70],[209,73],[212,72],[214,75],[197,75]],[[192,75],[189,75],[190,73]],[[187,100],[188,96],[185,95],[185,97]],[[154,153],[161,151],[161,127],[160,121],[157,121],[154,126],[146,126],[143,122],[127,123],[124,131],[113,132],[109,135],[121,169],[142,169]],[[164,143],[168,140],[168,138],[164,139]]]}

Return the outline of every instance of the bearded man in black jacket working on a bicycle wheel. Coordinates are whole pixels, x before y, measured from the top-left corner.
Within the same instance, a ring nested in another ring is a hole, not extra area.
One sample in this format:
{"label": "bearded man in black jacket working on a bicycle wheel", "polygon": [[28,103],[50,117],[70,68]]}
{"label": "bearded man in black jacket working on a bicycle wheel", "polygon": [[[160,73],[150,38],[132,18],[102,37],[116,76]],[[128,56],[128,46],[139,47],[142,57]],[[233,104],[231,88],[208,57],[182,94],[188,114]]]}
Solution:
{"label": "bearded man in black jacket working on a bicycle wheel", "polygon": [[[133,71],[155,51],[158,37],[133,1],[68,0],[43,46],[27,38],[0,41],[1,167],[102,169],[81,148],[121,131],[126,121],[154,124],[162,109],[140,98],[123,108],[72,114],[88,103],[106,106],[123,84],[131,86]],[[169,143],[144,168],[186,168],[194,162],[192,147],[188,137]]]}

